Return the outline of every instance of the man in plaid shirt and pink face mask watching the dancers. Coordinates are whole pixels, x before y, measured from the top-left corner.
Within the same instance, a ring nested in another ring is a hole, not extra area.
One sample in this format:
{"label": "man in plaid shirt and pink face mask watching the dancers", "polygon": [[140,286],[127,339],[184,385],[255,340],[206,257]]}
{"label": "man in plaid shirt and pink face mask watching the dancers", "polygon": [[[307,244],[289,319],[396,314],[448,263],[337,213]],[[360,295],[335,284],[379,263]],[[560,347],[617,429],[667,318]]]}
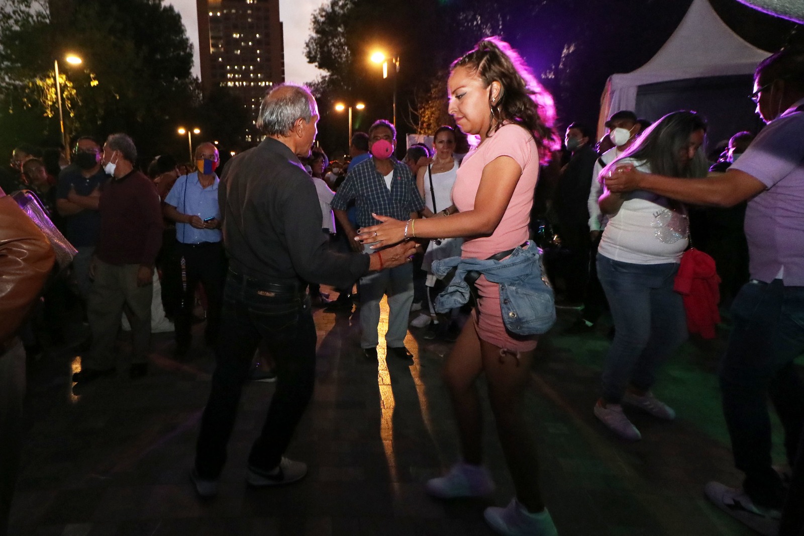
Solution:
{"label": "man in plaid shirt and pink face mask watching the dancers", "polygon": [[[346,180],[332,200],[335,217],[343,225],[349,244],[356,252],[375,254],[370,244],[355,241],[355,227],[347,217],[347,206],[355,200],[357,222],[360,227],[376,225],[374,215],[391,216],[397,220],[418,217],[425,208],[416,189],[416,181],[410,168],[394,158],[396,129],[385,120],[379,120],[368,130],[368,146],[371,159],[351,165]],[[379,270],[360,279],[360,347],[369,360],[377,359],[379,336],[379,302],[388,294],[388,332],[385,335],[388,354],[402,359],[411,359],[412,354],[404,347],[408,332],[408,314],[413,303],[412,265]]]}

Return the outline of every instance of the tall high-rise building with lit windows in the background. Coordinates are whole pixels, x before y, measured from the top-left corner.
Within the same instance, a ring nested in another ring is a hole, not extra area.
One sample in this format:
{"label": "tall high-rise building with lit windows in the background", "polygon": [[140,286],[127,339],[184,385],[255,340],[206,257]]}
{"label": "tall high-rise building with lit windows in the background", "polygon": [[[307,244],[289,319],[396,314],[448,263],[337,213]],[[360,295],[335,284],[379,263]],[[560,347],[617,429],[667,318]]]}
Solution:
{"label": "tall high-rise building with lit windows in the background", "polygon": [[[225,87],[256,118],[265,92],[285,81],[279,0],[196,0],[196,5],[203,93]],[[247,140],[256,134],[249,130]]]}

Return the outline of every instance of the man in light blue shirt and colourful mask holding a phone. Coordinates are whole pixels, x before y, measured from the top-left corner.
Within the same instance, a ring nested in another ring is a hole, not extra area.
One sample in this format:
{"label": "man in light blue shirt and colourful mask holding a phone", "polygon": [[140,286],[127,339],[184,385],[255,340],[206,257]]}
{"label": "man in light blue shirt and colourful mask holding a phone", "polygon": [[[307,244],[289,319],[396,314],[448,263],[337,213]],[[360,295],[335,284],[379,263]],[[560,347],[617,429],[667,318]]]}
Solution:
{"label": "man in light blue shirt and colourful mask holding a phone", "polygon": [[174,356],[184,357],[192,340],[192,311],[195,306],[195,287],[203,284],[207,293],[207,344],[214,345],[218,336],[220,303],[226,278],[226,258],[220,232],[218,208],[218,149],[205,142],[195,149],[198,171],[183,175],[165,198],[162,213],[176,222],[178,246],[174,259],[182,277],[180,287],[174,289],[180,296],[174,319],[176,348]]}

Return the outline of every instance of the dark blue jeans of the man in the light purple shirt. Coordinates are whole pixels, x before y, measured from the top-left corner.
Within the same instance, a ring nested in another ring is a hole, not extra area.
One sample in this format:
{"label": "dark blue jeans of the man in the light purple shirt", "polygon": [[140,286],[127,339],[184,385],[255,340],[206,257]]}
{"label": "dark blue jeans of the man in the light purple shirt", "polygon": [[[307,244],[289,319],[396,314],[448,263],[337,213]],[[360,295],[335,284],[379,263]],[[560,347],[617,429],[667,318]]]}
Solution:
{"label": "dark blue jeans of the man in the light purple shirt", "polygon": [[804,287],[785,287],[781,279],[748,282],[732,303],[732,321],[720,389],[734,462],[753,501],[779,507],[784,493],[771,468],[767,398],[793,466],[804,423],[804,385],[793,364],[804,351]]}

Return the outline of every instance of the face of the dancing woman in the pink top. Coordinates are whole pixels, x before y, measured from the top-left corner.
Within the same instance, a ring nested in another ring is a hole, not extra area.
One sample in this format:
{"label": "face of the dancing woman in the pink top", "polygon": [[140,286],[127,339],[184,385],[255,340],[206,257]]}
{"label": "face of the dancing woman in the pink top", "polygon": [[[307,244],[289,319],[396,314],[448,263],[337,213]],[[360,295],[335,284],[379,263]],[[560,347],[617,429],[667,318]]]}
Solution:
{"label": "face of the dancing woman in the pink top", "polygon": [[449,114],[466,134],[485,136],[491,126],[490,86],[476,72],[457,67],[447,80]]}

